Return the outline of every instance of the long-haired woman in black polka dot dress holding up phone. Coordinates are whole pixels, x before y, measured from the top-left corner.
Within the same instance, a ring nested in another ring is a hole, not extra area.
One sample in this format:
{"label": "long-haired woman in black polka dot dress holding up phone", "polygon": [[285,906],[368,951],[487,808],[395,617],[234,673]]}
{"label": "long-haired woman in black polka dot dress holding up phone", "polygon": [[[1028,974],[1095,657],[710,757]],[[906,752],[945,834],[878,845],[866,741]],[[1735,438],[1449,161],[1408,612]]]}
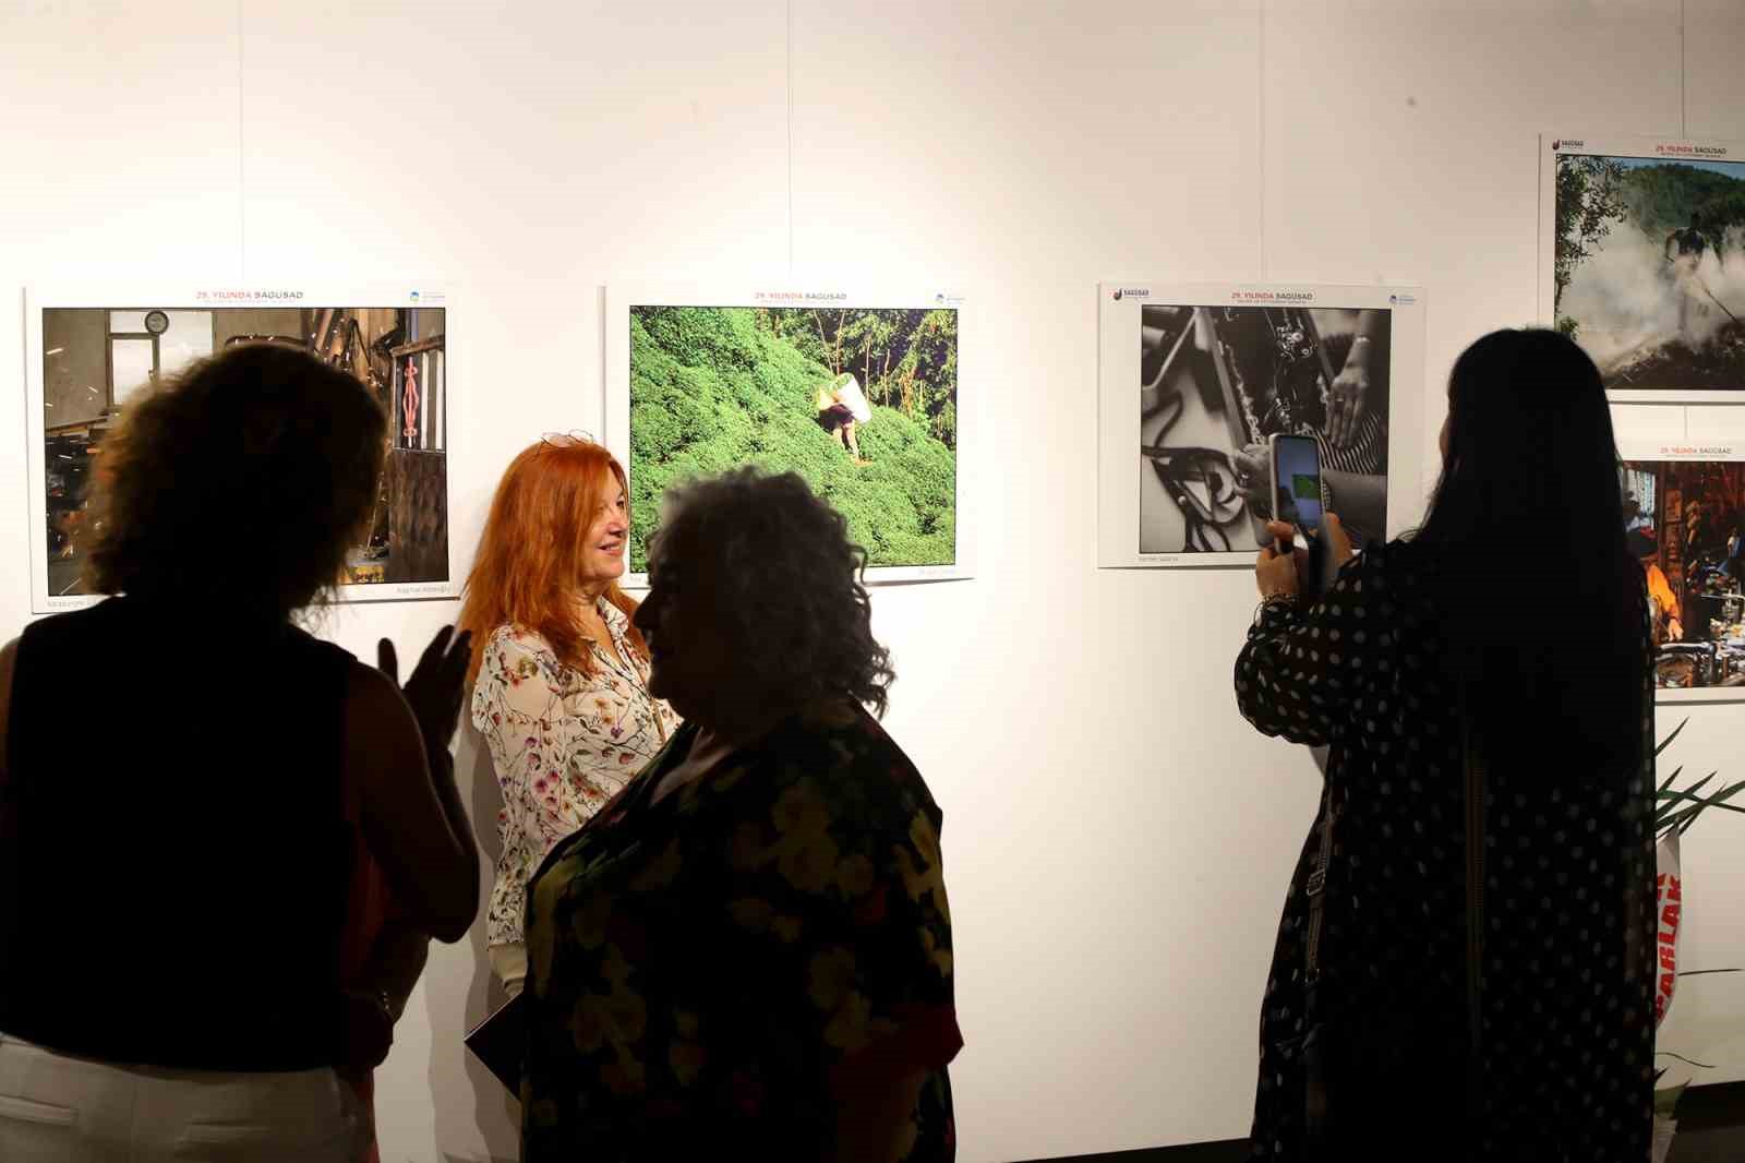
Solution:
{"label": "long-haired woman in black polka dot dress holding up phone", "polygon": [[[1267,735],[1330,744],[1333,826],[1314,1013],[1319,826],[1284,901],[1251,1158],[1640,1163],[1651,648],[1598,372],[1555,332],[1487,335],[1455,363],[1441,451],[1417,534],[1347,561],[1316,604],[1297,601],[1291,559],[1269,548],[1256,564],[1265,601],[1237,702]],[[1468,747],[1487,788],[1476,859]],[[1482,885],[1476,1062],[1469,866]],[[1326,1036],[1319,1135],[1305,1118],[1312,1027]]]}

